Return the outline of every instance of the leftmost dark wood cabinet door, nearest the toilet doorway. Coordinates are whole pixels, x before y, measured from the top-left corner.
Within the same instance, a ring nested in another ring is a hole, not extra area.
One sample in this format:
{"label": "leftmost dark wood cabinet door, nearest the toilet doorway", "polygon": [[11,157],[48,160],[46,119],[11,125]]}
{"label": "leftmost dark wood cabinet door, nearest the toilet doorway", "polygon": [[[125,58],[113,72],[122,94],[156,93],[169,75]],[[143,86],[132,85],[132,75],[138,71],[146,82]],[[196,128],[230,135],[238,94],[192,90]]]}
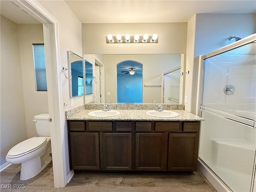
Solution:
{"label": "leftmost dark wood cabinet door, nearest the toilet doorway", "polygon": [[100,169],[98,133],[70,133],[70,160],[72,170]]}

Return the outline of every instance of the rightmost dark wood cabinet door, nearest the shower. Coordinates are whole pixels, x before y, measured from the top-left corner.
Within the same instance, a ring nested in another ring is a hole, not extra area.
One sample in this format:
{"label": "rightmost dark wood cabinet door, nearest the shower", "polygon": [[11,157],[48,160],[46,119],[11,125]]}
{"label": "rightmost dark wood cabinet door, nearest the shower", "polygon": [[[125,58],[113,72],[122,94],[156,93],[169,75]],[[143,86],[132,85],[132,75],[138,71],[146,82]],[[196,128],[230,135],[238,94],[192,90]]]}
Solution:
{"label": "rightmost dark wood cabinet door, nearest the shower", "polygon": [[168,171],[196,171],[197,133],[169,134]]}

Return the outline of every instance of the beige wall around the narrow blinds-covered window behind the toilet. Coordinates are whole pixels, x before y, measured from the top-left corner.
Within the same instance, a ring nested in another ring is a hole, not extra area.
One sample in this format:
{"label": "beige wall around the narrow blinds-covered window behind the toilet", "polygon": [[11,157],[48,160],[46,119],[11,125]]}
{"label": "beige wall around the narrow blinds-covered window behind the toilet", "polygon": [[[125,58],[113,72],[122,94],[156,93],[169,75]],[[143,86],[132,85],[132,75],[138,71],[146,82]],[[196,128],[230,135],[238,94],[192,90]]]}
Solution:
{"label": "beige wall around the narrow blinds-covered window behind the toilet", "polygon": [[35,115],[48,113],[47,92],[36,91],[32,44],[44,43],[42,24],[18,24],[20,64],[28,138],[37,137]]}

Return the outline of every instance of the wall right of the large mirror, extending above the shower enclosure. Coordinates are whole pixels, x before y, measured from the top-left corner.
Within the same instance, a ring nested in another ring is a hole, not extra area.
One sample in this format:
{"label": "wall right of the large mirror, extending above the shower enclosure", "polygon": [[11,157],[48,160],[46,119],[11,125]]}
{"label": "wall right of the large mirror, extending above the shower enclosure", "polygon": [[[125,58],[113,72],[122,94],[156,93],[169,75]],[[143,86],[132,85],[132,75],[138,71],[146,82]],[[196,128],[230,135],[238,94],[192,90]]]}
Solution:
{"label": "wall right of the large mirror, extending above the shower enclosure", "polygon": [[188,22],[185,110],[196,113],[198,56],[233,43],[229,36],[245,38],[256,33],[256,14],[196,14]]}

